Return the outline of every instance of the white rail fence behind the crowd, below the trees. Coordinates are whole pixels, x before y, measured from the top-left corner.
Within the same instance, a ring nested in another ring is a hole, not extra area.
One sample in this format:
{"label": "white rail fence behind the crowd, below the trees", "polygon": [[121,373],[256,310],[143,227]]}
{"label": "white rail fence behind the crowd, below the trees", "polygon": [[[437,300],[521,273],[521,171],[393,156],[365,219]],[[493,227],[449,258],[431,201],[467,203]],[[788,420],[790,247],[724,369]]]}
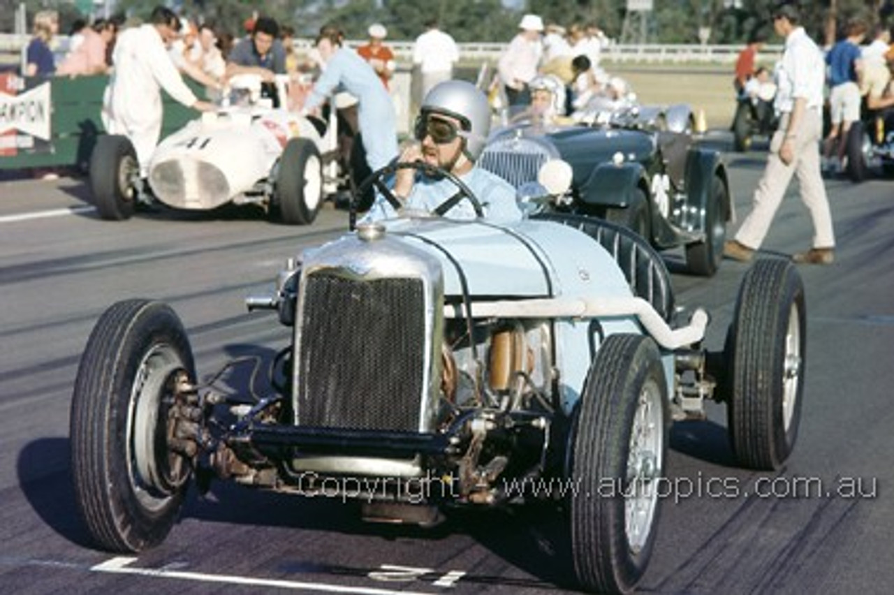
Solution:
{"label": "white rail fence behind the crowd, below the trees", "polygon": [[[28,45],[29,40],[30,35],[0,33],[0,54],[18,55],[21,53],[21,48]],[[62,50],[67,46],[68,38],[60,36],[56,38],[55,43]],[[312,39],[297,39],[295,46],[299,51],[304,51],[312,43]],[[363,42],[349,41],[348,45],[356,46],[361,43]],[[388,45],[397,54],[399,60],[407,62],[411,60],[412,41],[392,41]],[[459,46],[462,60],[468,62],[493,62],[506,48],[505,43],[468,43],[459,44]],[[699,44],[611,44],[603,48],[603,60],[609,63],[696,63],[728,66],[736,62],[736,57],[741,49],[742,46],[702,46]],[[764,46],[761,54],[765,59],[775,59],[781,52],[781,46]]]}

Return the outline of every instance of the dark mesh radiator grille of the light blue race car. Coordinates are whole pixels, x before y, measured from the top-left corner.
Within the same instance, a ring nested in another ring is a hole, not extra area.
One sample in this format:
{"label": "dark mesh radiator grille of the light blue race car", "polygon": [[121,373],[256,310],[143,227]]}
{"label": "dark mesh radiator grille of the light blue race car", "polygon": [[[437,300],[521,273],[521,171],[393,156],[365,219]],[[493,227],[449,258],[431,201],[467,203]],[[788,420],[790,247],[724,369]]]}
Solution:
{"label": "dark mesh radiator grille of the light blue race car", "polygon": [[423,282],[317,273],[304,283],[299,424],[417,431],[426,365]]}

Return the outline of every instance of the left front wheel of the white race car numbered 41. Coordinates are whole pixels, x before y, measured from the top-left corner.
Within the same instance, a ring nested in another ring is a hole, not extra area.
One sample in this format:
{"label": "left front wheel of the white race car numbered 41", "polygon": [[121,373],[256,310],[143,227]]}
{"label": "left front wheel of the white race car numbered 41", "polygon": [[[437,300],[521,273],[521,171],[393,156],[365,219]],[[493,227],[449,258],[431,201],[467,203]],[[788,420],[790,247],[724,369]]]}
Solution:
{"label": "left front wheel of the white race car numbered 41", "polygon": [[137,151],[131,140],[103,135],[90,155],[90,190],[99,216],[111,221],[130,219],[137,200]]}

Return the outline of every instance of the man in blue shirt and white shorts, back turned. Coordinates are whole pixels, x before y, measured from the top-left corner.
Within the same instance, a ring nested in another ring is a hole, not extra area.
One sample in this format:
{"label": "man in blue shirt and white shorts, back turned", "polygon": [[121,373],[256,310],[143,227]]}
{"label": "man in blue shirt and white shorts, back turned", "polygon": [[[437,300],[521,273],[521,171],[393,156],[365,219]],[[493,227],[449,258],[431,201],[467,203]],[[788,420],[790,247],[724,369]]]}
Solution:
{"label": "man in blue shirt and white shorts, back turned", "polygon": [[848,37],[832,46],[826,54],[832,126],[826,137],[824,155],[827,159],[837,155],[839,167],[847,146],[850,125],[860,119],[860,88],[857,81],[862,62],[859,44],[866,34],[866,26],[863,21],[852,20],[848,22],[846,31]]}

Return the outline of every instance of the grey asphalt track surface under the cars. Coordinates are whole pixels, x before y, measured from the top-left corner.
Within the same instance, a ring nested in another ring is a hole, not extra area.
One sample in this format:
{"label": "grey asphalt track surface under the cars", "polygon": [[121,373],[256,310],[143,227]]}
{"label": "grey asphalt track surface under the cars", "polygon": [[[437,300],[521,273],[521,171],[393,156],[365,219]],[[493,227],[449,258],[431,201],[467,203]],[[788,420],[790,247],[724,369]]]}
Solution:
{"label": "grey asphalt track surface under the cars", "polygon": [[[743,213],[765,155],[726,158]],[[724,406],[676,424],[676,496],[664,501],[642,592],[894,590],[894,185],[836,179],[827,189],[839,250],[831,266],[801,269],[808,339],[795,452],[780,473],[754,473],[733,460]],[[269,357],[288,331],[271,314],[247,313],[243,299],[346,221],[327,206],[304,228],[251,208],[105,222],[84,180],[0,182],[0,592],[573,590],[559,533],[538,508],[462,514],[423,531],[363,524],[334,499],[217,482],[204,499],[190,495],[161,547],[131,558],[90,547],[75,512],[68,424],[99,314],[125,298],[171,303],[200,376],[232,356]],[[791,254],[810,238],[793,186],[764,248]],[[709,347],[721,345],[745,271],[726,261],[710,280],[673,275],[679,303],[711,312]]]}

